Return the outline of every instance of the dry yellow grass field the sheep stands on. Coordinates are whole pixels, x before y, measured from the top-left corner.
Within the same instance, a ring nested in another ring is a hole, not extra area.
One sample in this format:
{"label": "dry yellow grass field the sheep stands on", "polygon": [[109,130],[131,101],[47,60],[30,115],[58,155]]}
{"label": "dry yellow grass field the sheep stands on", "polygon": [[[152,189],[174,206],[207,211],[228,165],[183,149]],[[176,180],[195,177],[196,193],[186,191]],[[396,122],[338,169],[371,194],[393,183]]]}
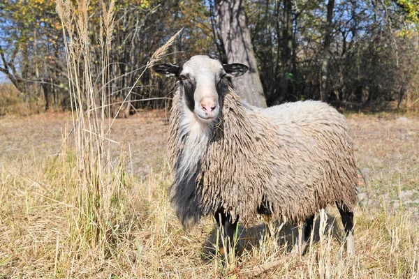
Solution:
{"label": "dry yellow grass field the sheep stands on", "polygon": [[89,239],[80,240],[87,230],[78,227],[71,138],[57,155],[71,114],[3,116],[0,278],[418,278],[419,119],[347,115],[365,178],[358,181],[355,257],[346,256],[339,214],[330,207],[304,256],[284,243],[295,228],[270,224],[276,233],[266,234],[261,220],[240,227],[240,251],[223,267],[214,220],[185,232],[170,208],[167,117],[141,112],[113,124],[110,160],[122,162],[115,176],[123,181],[111,200],[117,217],[104,218],[115,223],[89,246],[80,244]]}

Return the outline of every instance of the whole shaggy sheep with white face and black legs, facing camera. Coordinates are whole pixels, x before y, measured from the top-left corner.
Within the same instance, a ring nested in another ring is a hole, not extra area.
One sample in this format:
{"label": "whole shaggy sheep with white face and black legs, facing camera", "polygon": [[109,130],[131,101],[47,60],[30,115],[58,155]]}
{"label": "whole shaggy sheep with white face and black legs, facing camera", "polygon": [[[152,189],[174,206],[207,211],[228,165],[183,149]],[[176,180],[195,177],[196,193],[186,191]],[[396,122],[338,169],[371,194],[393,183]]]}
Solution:
{"label": "whole shaggy sheep with white face and black legs, facing camera", "polygon": [[[355,252],[358,176],[343,115],[312,100],[265,109],[242,102],[226,79],[247,72],[240,63],[198,55],[154,70],[178,77],[168,140],[175,170],[170,199],[185,228],[213,214],[233,241],[239,221],[268,214],[300,226],[302,253],[314,214],[335,203],[346,250]],[[220,244],[220,252],[228,251]]]}

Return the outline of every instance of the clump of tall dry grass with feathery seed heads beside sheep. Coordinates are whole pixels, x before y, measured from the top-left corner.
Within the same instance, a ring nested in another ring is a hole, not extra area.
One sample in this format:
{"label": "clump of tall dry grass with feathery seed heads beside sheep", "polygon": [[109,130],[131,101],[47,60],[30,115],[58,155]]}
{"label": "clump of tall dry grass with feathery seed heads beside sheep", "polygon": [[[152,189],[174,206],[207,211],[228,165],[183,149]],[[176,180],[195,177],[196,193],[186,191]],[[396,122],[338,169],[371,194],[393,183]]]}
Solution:
{"label": "clump of tall dry grass with feathery seed heads beside sheep", "polygon": [[[91,67],[89,1],[80,0],[76,4],[69,0],[56,2],[57,13],[64,27],[73,118],[73,149],[68,150],[66,142],[61,148],[64,154],[73,151],[70,160],[62,161],[69,189],[68,202],[77,209],[69,211],[69,241],[74,255],[81,256],[94,251],[97,257],[105,259],[112,255],[113,247],[119,245],[119,229],[130,203],[126,196],[130,187],[124,170],[126,153],[122,149],[119,158],[111,160],[111,145],[118,143],[111,139],[115,119],[107,117],[111,105],[108,90],[108,81],[112,78],[109,54],[115,25],[115,0],[111,0],[108,7],[101,2],[99,43],[102,69],[99,79],[101,88],[98,90],[95,90],[96,77]],[[145,70],[161,59],[179,32],[153,54],[137,82]],[[132,86],[134,88],[135,84]]]}

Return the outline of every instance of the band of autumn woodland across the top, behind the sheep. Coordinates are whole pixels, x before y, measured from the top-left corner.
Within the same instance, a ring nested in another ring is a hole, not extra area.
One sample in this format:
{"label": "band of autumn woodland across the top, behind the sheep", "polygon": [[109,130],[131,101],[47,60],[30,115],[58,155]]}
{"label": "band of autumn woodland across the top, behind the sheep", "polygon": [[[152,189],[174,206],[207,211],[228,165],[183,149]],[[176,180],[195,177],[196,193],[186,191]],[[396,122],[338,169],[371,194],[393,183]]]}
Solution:
{"label": "band of autumn woodland across the top, behind the sheep", "polygon": [[[418,110],[418,1],[233,1],[226,10],[222,3],[117,0],[108,102],[120,105],[126,100],[125,115],[168,105],[172,80],[151,69],[137,84],[135,80],[156,48],[184,27],[164,60],[179,63],[210,54],[224,63],[249,65],[247,77],[233,85],[256,80],[259,100],[240,91],[253,105],[314,99],[355,110]],[[94,77],[103,69],[101,5],[91,0],[89,6]],[[13,86],[2,85],[8,90],[0,90],[0,114],[71,107],[63,30],[55,7],[54,0],[1,1],[0,71]],[[241,34],[236,41],[223,27],[235,16],[237,29],[232,32]],[[232,37],[236,49],[228,43]],[[96,91],[100,82],[94,81]],[[22,100],[24,107],[13,108]],[[112,114],[112,105],[109,109]]]}

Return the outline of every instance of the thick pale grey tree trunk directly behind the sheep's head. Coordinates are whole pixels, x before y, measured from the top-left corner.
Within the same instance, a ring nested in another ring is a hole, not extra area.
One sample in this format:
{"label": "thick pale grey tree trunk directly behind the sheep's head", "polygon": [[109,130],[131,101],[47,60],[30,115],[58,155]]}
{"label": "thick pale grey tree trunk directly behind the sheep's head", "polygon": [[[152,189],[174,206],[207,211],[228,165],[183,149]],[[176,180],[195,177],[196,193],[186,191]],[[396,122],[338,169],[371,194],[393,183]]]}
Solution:
{"label": "thick pale grey tree trunk directly behind the sheep's head", "polygon": [[232,79],[233,88],[249,104],[266,107],[242,0],[215,0],[215,6],[228,63],[249,66],[246,75]]}

